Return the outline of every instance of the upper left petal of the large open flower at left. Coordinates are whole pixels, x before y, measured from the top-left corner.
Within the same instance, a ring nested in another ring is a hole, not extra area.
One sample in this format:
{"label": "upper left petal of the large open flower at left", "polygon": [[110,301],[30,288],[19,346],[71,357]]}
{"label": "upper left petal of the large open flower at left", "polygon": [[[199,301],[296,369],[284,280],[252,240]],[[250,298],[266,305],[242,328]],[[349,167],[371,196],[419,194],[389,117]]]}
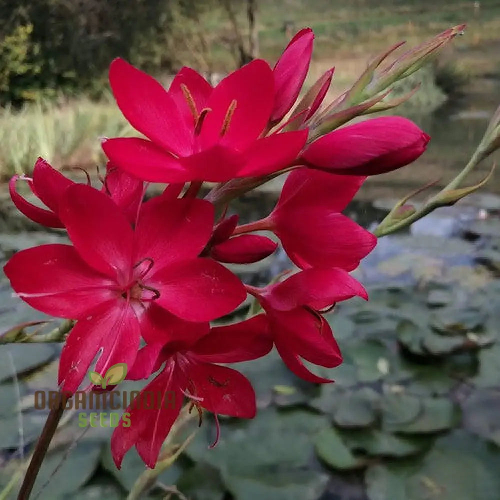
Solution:
{"label": "upper left petal of the large open flower at left", "polygon": [[125,214],[93,187],[68,187],[59,213],[68,235],[85,262],[109,276],[129,279],[133,231]]}

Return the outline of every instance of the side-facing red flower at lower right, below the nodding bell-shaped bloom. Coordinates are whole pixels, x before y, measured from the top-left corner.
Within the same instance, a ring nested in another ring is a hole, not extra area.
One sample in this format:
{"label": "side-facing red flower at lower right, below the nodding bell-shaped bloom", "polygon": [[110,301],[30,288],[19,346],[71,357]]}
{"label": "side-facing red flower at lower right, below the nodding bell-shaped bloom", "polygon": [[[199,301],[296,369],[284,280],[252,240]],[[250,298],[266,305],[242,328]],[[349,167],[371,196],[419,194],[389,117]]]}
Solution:
{"label": "side-facing red flower at lower right, below the nodding bell-shaped bloom", "polygon": [[264,308],[274,344],[288,368],[304,380],[323,383],[301,358],[332,368],[342,356],[326,320],[318,312],[353,296],[367,299],[362,285],[337,268],[311,268],[265,288],[247,286]]}

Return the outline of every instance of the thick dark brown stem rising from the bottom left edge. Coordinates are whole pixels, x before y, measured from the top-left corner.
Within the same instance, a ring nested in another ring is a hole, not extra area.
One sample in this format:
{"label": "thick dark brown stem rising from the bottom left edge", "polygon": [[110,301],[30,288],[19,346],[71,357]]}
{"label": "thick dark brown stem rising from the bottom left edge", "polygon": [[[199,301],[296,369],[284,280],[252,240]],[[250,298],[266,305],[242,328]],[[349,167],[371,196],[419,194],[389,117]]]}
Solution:
{"label": "thick dark brown stem rising from the bottom left edge", "polygon": [[57,398],[57,404],[50,408],[45,425],[41,431],[40,437],[36,442],[33,454],[31,455],[31,460],[29,461],[26,474],[21,484],[17,500],[28,500],[29,495],[33,489],[36,476],[40,470],[41,464],[50,445],[50,441],[55,434],[57,425],[62,417],[64,411],[64,406],[66,405],[66,397],[59,392],[60,397]]}

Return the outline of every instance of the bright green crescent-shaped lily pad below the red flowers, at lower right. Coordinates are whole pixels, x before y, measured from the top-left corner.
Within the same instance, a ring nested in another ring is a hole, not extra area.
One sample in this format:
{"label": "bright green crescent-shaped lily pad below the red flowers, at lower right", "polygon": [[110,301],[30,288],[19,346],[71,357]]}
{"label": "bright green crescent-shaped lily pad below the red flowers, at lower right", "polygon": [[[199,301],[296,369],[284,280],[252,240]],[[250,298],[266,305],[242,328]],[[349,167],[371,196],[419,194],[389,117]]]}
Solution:
{"label": "bright green crescent-shaped lily pad below the red flowers, at lower right", "polygon": [[322,429],[314,439],[317,456],[327,465],[338,470],[350,470],[363,467],[363,458],[356,457],[342,440],[334,427]]}

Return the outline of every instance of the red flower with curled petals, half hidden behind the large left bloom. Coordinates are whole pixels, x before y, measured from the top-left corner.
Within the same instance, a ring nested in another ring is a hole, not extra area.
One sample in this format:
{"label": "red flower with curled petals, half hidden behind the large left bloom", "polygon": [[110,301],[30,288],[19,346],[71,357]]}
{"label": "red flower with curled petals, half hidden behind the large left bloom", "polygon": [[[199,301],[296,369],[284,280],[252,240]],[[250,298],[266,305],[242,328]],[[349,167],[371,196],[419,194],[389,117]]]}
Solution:
{"label": "red flower with curled petals, half hidden behind the large left bloom", "polygon": [[[26,201],[15,190],[18,179],[27,181],[33,194],[48,209]],[[135,220],[137,208],[142,199],[143,182],[108,163],[102,183],[102,191],[106,192],[125,211],[129,220]],[[14,205],[26,217],[47,227],[64,227],[59,218],[59,203],[66,187],[73,184],[72,180],[64,177],[43,158],[38,158],[33,167],[32,178],[14,175],[8,183],[8,189]]]}

